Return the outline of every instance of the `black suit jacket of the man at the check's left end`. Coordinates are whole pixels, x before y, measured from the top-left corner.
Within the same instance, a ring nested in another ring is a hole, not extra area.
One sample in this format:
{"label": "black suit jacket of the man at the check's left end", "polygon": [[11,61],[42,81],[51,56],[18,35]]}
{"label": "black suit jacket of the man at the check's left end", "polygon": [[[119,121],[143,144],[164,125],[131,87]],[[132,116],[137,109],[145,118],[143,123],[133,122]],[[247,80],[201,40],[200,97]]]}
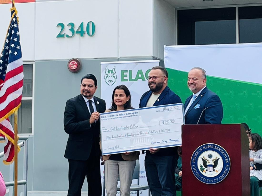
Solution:
{"label": "black suit jacket of the man at the check's left end", "polygon": [[[105,112],[105,100],[94,96],[94,101],[97,112]],[[98,120],[90,127],[90,116],[86,102],[81,94],[66,102],[64,112],[64,130],[69,134],[69,137],[64,154],[65,158],[87,160],[91,150],[95,151],[97,158],[100,157],[100,121]]]}

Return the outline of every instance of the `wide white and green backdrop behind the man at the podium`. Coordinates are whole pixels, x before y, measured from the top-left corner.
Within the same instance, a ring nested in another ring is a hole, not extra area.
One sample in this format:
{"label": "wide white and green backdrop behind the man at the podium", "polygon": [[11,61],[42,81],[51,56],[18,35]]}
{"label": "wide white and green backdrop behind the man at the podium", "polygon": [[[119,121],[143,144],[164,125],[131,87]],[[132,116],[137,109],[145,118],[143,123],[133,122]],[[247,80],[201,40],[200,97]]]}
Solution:
{"label": "wide white and green backdrop behind the man at the podium", "polygon": [[164,61],[168,86],[183,102],[192,94],[188,72],[201,67],[222,101],[222,123],[245,122],[262,135],[262,43],[165,46]]}

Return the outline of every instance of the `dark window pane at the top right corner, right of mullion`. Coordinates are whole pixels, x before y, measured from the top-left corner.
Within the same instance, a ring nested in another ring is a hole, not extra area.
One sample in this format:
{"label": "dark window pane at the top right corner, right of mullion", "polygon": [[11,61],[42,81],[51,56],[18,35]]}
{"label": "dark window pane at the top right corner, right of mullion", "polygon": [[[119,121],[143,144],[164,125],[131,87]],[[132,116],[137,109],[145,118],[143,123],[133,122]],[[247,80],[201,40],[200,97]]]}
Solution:
{"label": "dark window pane at the top right corner, right of mullion", "polygon": [[239,7],[239,43],[262,42],[262,6]]}

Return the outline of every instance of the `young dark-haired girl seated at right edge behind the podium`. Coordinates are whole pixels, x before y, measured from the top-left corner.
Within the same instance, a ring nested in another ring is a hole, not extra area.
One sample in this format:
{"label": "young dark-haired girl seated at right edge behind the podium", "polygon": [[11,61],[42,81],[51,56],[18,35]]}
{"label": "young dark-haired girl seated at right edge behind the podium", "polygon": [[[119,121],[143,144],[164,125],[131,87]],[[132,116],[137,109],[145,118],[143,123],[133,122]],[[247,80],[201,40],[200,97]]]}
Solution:
{"label": "young dark-haired girl seated at right edge behind the podium", "polygon": [[249,149],[250,196],[258,196],[259,187],[262,185],[262,170],[255,170],[254,164],[262,164],[262,138],[259,134],[250,135]]}

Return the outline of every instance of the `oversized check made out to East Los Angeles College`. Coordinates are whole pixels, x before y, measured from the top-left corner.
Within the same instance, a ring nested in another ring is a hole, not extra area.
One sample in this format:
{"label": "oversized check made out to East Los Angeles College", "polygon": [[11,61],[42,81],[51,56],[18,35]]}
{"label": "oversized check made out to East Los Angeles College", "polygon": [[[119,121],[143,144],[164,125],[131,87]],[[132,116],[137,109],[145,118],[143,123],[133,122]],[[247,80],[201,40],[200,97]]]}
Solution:
{"label": "oversized check made out to East Los Angeles College", "polygon": [[183,103],[100,113],[102,155],[179,146]]}

